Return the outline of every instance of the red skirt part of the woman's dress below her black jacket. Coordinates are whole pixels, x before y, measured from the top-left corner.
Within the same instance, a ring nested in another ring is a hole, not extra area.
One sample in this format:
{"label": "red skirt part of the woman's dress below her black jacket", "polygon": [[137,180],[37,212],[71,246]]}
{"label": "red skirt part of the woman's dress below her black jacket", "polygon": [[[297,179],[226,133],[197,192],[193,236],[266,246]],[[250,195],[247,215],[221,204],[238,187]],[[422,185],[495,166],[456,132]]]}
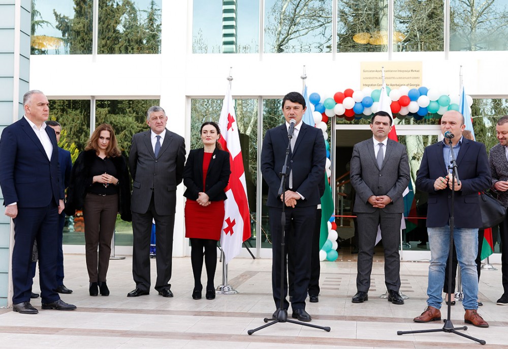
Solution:
{"label": "red skirt part of the woman's dress below her black jacket", "polygon": [[185,237],[220,240],[224,223],[224,200],[203,207],[196,200],[185,201]]}

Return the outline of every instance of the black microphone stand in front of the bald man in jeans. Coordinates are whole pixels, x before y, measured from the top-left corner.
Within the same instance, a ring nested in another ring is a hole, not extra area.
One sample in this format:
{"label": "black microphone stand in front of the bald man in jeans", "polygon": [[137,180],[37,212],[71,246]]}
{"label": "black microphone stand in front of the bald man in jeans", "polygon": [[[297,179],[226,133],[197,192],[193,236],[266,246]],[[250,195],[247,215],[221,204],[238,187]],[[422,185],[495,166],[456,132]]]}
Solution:
{"label": "black microphone stand in front of the bald man in jeans", "polygon": [[[452,255],[453,255],[453,229],[454,229],[454,207],[455,207],[455,179],[457,179],[457,184],[460,184],[459,182],[459,173],[457,168],[457,162],[455,161],[455,154],[453,153],[453,145],[452,145],[452,139],[449,138],[449,144],[450,144],[450,150],[452,155],[452,160],[450,161],[450,166],[448,166],[449,169],[452,169],[452,208],[450,212],[450,247],[448,252],[448,289],[452,289]],[[458,332],[458,330],[467,330],[467,326],[462,327],[454,327],[452,324],[452,321],[450,319],[450,314],[452,312],[452,302],[448,302],[448,316],[446,320],[444,321],[444,326],[440,329],[433,329],[433,330],[419,330],[419,331],[397,331],[397,335],[403,335],[403,334],[409,334],[409,333],[429,333],[429,332],[446,332],[446,333],[455,333],[459,336],[474,340],[479,342],[482,345],[485,345],[486,341],[483,339],[474,338],[471,336],[468,336],[467,334],[463,334],[461,332]]]}

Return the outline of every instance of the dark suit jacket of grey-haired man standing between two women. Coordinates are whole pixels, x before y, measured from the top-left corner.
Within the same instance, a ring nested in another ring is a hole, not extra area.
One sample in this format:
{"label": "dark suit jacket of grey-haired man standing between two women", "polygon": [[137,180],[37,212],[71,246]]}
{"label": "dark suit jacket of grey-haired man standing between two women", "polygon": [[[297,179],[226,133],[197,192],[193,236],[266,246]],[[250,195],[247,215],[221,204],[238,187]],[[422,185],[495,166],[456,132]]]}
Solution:
{"label": "dark suit jacket of grey-haired man standing between two women", "polygon": [[160,215],[175,213],[176,187],[182,182],[185,143],[182,136],[166,129],[166,136],[155,159],[150,130],[132,137],[129,169],[132,183],[132,211],[146,213],[153,188],[155,210]]}

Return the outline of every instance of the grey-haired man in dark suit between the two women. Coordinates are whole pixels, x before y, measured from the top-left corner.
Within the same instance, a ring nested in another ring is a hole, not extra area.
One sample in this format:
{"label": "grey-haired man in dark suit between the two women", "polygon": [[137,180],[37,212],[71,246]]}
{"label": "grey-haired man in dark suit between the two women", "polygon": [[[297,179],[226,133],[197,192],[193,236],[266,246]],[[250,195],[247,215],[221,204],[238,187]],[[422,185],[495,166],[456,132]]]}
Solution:
{"label": "grey-haired man in dark suit between the two women", "polygon": [[163,297],[171,292],[173,228],[175,224],[176,187],[182,182],[185,164],[183,137],[166,129],[168,117],[163,108],[152,106],[146,112],[150,131],[132,137],[129,169],[133,179],[132,274],[136,288],[127,297],[150,292],[150,235],[155,220],[157,280],[155,289]]}

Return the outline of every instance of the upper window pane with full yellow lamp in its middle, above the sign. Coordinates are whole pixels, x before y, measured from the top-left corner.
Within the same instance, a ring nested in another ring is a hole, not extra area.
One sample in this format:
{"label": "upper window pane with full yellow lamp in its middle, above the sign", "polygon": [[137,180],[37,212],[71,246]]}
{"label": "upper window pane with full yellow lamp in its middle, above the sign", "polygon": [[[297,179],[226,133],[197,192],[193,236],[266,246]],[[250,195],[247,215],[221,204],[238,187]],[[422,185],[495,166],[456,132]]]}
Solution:
{"label": "upper window pane with full yellow lamp in its middle, above the sign", "polygon": [[387,50],[388,1],[338,0],[337,7],[337,52]]}

